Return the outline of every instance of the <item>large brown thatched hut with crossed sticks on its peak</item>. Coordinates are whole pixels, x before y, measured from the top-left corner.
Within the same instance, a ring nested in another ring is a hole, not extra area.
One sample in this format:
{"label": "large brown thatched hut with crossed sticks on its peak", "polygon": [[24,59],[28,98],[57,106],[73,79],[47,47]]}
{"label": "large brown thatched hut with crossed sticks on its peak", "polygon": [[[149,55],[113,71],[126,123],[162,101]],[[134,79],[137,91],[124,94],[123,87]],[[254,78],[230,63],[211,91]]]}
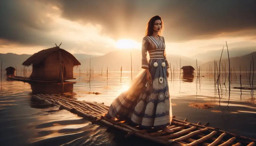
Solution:
{"label": "large brown thatched hut with crossed sticks on its peak", "polygon": [[31,79],[58,80],[60,79],[60,57],[63,80],[72,80],[74,66],[81,63],[68,51],[56,47],[41,50],[22,63],[24,66],[32,65]]}

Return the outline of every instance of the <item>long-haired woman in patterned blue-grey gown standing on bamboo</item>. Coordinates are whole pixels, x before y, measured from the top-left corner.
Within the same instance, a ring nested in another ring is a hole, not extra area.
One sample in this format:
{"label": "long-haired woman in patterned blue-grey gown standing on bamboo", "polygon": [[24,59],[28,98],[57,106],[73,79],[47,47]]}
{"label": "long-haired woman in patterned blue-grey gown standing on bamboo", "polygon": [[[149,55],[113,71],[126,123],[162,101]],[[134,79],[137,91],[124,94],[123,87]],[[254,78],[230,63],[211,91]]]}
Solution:
{"label": "long-haired woman in patterned blue-grey gown standing on bamboo", "polygon": [[[168,125],[172,120],[167,77],[168,62],[165,40],[160,36],[162,18],[152,17],[142,40],[142,69],[131,87],[121,93],[110,105],[106,117],[130,120],[131,124],[145,128],[161,128],[173,132]],[[147,52],[150,60],[147,60]]]}

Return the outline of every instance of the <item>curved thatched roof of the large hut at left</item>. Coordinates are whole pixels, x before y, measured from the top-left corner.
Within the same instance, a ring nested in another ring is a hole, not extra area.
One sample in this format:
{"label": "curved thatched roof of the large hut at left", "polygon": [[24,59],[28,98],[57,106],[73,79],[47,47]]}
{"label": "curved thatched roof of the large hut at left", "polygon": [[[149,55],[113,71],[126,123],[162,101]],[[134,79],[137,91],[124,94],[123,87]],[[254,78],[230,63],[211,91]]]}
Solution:
{"label": "curved thatched roof of the large hut at left", "polygon": [[81,65],[81,63],[71,53],[69,53],[68,51],[66,51],[64,49],[61,49],[57,46],[53,47],[53,48],[50,48],[50,49],[41,50],[41,51],[33,54],[26,61],[24,61],[22,63],[22,65],[24,65],[24,66],[30,66],[32,64],[37,65],[42,60],[44,60],[45,57],[47,57],[48,55],[50,55],[50,54],[52,54],[56,51],[59,51],[59,50],[60,50],[61,53],[64,53],[70,60],[72,60],[74,62],[74,66]]}

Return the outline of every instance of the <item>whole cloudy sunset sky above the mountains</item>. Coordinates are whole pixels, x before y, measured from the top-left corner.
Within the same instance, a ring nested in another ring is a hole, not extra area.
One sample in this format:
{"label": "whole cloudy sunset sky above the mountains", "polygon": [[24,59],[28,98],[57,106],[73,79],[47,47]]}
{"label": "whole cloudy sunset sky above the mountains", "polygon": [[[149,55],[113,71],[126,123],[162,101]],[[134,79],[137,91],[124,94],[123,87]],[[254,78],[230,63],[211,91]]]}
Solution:
{"label": "whole cloudy sunset sky above the mountains", "polygon": [[166,53],[191,56],[256,46],[255,0],[2,0],[0,53],[55,47],[104,55],[141,49],[148,20],[163,19]]}

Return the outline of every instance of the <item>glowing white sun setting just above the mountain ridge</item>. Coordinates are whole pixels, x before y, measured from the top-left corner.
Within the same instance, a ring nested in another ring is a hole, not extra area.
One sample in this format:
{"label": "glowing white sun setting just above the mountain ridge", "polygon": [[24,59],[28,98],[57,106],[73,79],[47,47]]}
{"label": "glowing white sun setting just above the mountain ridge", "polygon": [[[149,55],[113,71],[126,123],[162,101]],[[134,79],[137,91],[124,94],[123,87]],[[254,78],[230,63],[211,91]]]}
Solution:
{"label": "glowing white sun setting just above the mountain ridge", "polygon": [[140,44],[134,40],[122,39],[118,40],[115,46],[119,49],[137,49],[140,47]]}

